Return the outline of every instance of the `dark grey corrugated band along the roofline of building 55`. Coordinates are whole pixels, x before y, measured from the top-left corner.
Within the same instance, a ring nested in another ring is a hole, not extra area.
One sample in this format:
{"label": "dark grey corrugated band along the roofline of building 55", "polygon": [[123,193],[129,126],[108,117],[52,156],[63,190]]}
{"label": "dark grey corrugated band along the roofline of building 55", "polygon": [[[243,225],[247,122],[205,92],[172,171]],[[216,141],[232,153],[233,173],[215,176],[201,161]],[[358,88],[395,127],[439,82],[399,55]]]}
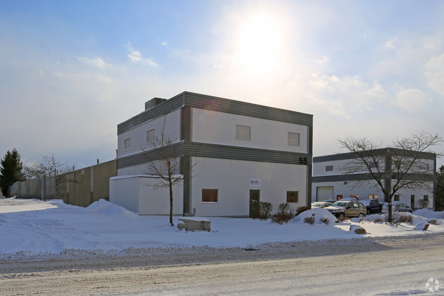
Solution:
{"label": "dark grey corrugated band along the roofline of building 55", "polygon": [[182,106],[313,126],[313,115],[311,114],[183,92],[153,109],[144,111],[118,124],[117,134],[119,135],[139,124],[157,118],[163,114],[167,114]]}

